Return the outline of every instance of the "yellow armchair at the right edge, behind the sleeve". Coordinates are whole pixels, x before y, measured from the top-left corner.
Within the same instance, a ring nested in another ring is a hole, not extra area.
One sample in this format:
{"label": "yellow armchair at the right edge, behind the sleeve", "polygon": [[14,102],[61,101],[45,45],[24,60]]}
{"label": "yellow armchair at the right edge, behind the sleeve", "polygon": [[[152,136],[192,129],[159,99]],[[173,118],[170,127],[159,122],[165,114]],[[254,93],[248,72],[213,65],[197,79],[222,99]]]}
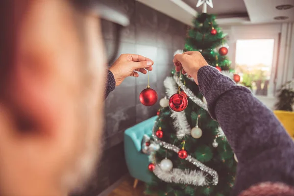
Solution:
{"label": "yellow armchair at the right edge, behind the sleeve", "polygon": [[294,139],[294,112],[274,110],[273,113],[283,124],[289,135]]}

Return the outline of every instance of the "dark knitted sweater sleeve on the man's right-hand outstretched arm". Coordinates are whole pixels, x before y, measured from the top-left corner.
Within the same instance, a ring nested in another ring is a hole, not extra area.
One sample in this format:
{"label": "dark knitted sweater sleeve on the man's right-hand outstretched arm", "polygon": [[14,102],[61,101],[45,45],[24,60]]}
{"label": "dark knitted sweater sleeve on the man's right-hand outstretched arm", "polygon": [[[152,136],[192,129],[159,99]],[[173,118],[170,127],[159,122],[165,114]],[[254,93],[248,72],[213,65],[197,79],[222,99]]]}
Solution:
{"label": "dark knitted sweater sleeve on the man's right-hand outstretched arm", "polygon": [[238,158],[232,192],[239,195],[261,182],[294,185],[294,142],[274,114],[245,87],[211,66],[197,73],[211,116]]}

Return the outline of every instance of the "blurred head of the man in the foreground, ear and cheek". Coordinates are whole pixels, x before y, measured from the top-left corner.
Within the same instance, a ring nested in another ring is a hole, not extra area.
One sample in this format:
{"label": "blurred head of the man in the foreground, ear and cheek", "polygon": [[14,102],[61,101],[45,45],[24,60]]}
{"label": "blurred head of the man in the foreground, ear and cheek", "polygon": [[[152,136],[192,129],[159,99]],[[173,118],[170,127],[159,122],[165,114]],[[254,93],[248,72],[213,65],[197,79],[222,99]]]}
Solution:
{"label": "blurred head of the man in the foreground, ear and cheek", "polygon": [[66,194],[82,185],[98,157],[105,75],[99,21],[67,0],[9,3],[0,195]]}

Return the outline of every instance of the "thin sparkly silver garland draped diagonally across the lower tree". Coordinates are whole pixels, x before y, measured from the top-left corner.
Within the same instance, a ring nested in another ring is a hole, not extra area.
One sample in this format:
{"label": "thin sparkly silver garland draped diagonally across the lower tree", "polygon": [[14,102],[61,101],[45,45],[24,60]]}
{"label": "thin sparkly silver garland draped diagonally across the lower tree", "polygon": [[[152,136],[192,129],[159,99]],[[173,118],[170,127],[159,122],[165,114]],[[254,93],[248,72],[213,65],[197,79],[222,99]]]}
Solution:
{"label": "thin sparkly silver garland draped diagonally across the lower tree", "polygon": [[[166,143],[166,142],[163,142],[163,141],[160,141],[156,135],[155,135],[155,125],[153,127],[153,130],[152,130],[152,136],[153,136],[153,139],[154,141],[159,144],[160,146],[166,148],[166,149],[169,149],[169,150],[172,150],[174,151],[175,153],[178,153],[180,148],[172,145],[172,144],[169,144],[169,143]],[[215,170],[207,167],[206,165],[204,165],[203,163],[201,163],[200,161],[198,161],[197,159],[193,158],[191,155],[188,155],[188,157],[185,159],[187,161],[189,161],[190,163],[192,163],[193,165],[195,165],[197,168],[199,168],[201,171],[203,172],[206,172],[208,173],[210,176],[212,176],[212,184],[213,185],[217,185],[219,183],[219,174],[218,172],[216,172]]]}

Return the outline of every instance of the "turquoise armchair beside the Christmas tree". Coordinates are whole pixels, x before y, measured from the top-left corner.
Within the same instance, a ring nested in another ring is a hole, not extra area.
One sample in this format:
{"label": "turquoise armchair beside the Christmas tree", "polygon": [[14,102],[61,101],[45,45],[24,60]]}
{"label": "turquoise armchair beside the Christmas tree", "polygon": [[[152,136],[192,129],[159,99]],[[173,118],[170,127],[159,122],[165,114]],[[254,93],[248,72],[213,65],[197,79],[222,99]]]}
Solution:
{"label": "turquoise armchair beside the Christmas tree", "polygon": [[124,154],[129,173],[135,178],[134,188],[138,180],[151,181],[151,173],[148,170],[148,155],[141,152],[141,143],[144,134],[151,136],[152,128],[157,116],[142,123],[138,123],[124,132]]}

